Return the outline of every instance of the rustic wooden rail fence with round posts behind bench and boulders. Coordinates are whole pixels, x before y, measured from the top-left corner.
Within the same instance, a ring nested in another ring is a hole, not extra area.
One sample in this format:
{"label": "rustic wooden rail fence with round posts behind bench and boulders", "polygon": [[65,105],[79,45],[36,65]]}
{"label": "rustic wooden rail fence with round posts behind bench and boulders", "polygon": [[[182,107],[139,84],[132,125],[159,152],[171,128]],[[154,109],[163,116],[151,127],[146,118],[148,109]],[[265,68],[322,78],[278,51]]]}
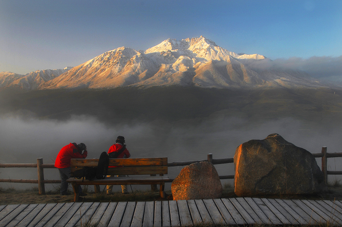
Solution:
{"label": "rustic wooden rail fence with round posts behind bench and boulders", "polygon": [[[321,170],[324,175],[324,183],[328,183],[328,175],[342,175],[342,171],[328,171],[327,170],[327,158],[339,158],[342,157],[342,152],[339,153],[327,153],[327,147],[323,146],[321,153],[313,153],[315,158],[321,158]],[[225,159],[213,159],[213,154],[208,154],[208,158],[205,160],[198,161],[186,161],[186,162],[172,162],[168,163],[168,167],[173,166],[185,166],[193,163],[207,161],[212,163],[213,165],[218,164],[228,164],[234,163],[234,158],[225,158]],[[44,168],[56,168],[54,164],[43,164],[43,159],[38,158],[37,164],[0,164],[0,168],[21,168],[21,167],[34,167],[38,168],[38,180],[23,180],[23,179],[0,179],[0,182],[7,183],[30,183],[30,184],[38,184],[39,194],[45,194],[45,184],[59,184],[61,180],[44,180]],[[220,179],[234,179],[235,175],[225,175],[219,176]],[[172,182],[171,179],[170,182]]]}

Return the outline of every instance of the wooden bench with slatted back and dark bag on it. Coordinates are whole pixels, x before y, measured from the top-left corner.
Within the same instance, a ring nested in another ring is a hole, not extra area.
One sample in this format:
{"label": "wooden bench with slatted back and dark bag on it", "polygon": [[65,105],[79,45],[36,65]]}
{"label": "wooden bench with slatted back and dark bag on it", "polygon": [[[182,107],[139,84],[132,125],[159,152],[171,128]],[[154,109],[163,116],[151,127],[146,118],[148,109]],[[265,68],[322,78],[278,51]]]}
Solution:
{"label": "wooden bench with slatted back and dark bag on it", "polygon": [[[110,177],[101,180],[83,180],[73,177],[73,172],[85,166],[97,166],[99,159],[71,159],[71,178],[66,182],[71,183],[75,196],[74,201],[78,201],[79,185],[160,185],[160,197],[165,198],[165,182],[170,182],[168,176],[168,158],[128,158],[109,159],[107,175],[125,175],[127,177]],[[156,176],[156,175],[159,176]],[[133,175],[133,176],[132,176]],[[152,175],[152,176],[151,176]]]}

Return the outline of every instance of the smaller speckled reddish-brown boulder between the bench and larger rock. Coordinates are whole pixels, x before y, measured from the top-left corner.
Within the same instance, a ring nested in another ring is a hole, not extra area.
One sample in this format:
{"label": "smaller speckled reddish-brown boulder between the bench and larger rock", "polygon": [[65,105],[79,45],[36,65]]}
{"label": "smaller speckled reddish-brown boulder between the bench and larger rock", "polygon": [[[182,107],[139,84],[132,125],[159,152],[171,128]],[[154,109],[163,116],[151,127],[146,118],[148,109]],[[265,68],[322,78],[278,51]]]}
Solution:
{"label": "smaller speckled reddish-brown boulder between the bench and larger rock", "polygon": [[185,166],[171,185],[173,200],[216,199],[222,196],[217,171],[209,162]]}

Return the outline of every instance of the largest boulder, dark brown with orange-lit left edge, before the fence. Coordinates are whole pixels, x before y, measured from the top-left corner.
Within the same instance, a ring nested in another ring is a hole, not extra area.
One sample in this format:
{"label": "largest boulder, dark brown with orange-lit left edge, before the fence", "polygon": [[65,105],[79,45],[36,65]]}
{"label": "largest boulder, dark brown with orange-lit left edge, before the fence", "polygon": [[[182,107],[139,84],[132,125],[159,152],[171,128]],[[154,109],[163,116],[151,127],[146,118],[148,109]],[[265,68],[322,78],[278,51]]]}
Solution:
{"label": "largest boulder, dark brown with orange-lit left edge, before the fence", "polygon": [[234,165],[237,196],[315,194],[324,187],[314,156],[278,134],[239,145]]}

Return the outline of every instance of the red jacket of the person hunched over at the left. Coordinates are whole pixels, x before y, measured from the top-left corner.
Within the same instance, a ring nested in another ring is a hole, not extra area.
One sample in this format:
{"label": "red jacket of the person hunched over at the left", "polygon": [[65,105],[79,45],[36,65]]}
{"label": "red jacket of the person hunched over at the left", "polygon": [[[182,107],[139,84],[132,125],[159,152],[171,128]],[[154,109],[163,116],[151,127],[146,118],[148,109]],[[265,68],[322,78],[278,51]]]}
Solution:
{"label": "red jacket of the person hunched over at the left", "polygon": [[79,150],[76,143],[68,144],[64,146],[57,155],[55,161],[55,167],[66,168],[70,167],[71,159],[84,159],[87,156],[87,151],[85,150],[82,154],[82,150]]}

